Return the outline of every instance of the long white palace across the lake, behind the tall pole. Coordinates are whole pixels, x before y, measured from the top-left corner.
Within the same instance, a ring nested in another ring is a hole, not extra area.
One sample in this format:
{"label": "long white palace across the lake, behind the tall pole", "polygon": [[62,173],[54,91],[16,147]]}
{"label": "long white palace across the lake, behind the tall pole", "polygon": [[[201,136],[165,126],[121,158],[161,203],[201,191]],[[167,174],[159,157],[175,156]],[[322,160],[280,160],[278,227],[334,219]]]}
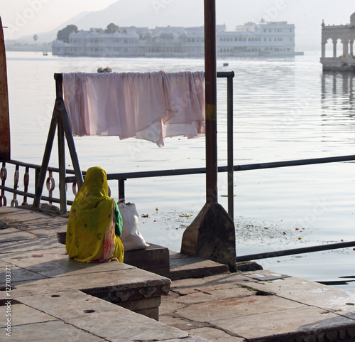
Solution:
{"label": "long white palace across the lake, behind the tall pole", "polygon": [[[70,33],[69,43],[54,41],[53,55],[91,57],[187,57],[204,55],[204,28],[201,27],[120,27],[114,33],[102,28]],[[293,56],[295,26],[287,21],[245,23],[235,31],[217,26],[217,55]]]}

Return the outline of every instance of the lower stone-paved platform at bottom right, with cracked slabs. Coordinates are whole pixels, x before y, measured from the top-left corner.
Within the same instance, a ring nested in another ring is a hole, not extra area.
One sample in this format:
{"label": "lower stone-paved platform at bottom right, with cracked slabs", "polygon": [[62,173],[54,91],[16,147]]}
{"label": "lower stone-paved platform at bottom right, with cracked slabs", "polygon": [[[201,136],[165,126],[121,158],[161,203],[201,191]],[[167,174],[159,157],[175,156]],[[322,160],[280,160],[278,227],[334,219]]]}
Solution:
{"label": "lower stone-paved platform at bottom right, with cracked slabs", "polygon": [[160,322],[209,341],[355,341],[355,294],[270,271],[173,281]]}

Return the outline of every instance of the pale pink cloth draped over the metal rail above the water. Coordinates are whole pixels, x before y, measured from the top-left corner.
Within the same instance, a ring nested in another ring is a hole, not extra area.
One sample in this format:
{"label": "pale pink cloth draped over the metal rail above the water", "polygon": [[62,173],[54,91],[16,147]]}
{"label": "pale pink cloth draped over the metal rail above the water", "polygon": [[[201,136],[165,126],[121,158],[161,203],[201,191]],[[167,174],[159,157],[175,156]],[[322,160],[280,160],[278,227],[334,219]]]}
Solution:
{"label": "pale pink cloth draped over the metal rail above the water", "polygon": [[67,73],[63,97],[78,136],[165,137],[204,134],[204,73]]}

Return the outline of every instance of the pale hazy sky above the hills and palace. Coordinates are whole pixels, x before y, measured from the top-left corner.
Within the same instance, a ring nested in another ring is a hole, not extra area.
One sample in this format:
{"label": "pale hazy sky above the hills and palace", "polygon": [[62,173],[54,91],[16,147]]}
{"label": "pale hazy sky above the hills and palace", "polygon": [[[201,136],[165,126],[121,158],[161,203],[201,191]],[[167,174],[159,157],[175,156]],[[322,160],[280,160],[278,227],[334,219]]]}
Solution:
{"label": "pale hazy sky above the hills and palace", "polygon": [[[125,1],[125,0],[120,0]],[[6,39],[38,34],[57,28],[82,11],[99,11],[116,0],[0,0],[0,16]],[[131,0],[129,9],[137,22],[121,26],[200,26],[203,0]],[[137,6],[141,4],[141,6]],[[296,46],[320,45],[320,29],[326,24],[349,23],[354,0],[216,0],[217,23],[233,31],[247,21],[288,21],[296,27]],[[126,9],[126,8],[125,8]],[[144,13],[142,13],[144,11]],[[144,15],[146,14],[146,15]],[[130,17],[131,18],[131,17]],[[131,20],[131,19],[130,19]]]}

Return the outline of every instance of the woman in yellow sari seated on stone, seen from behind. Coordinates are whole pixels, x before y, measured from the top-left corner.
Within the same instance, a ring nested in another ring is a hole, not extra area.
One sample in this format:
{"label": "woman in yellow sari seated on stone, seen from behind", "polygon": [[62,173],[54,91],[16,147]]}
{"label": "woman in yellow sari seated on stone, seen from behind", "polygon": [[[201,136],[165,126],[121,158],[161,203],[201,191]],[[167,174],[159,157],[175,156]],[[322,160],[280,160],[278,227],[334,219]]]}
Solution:
{"label": "woman in yellow sari seated on stone, seen from behind", "polygon": [[109,197],[107,173],[99,166],[89,168],[67,223],[65,248],[70,259],[124,262],[121,232],[122,216],[116,201]]}

